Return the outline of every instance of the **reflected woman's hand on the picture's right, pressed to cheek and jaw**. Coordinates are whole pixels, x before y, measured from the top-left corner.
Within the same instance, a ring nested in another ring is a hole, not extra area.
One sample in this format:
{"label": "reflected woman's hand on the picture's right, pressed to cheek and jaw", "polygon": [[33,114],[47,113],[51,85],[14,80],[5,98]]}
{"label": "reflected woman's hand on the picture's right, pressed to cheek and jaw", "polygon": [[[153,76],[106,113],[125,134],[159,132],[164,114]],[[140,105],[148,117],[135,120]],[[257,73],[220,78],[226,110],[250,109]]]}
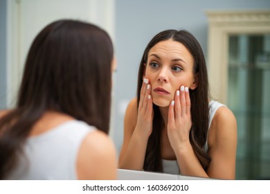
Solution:
{"label": "reflected woman's hand on the picture's right, pressed to cheek and jaw", "polygon": [[190,143],[189,134],[192,126],[190,105],[188,87],[182,85],[174,94],[168,112],[168,138],[174,152]]}

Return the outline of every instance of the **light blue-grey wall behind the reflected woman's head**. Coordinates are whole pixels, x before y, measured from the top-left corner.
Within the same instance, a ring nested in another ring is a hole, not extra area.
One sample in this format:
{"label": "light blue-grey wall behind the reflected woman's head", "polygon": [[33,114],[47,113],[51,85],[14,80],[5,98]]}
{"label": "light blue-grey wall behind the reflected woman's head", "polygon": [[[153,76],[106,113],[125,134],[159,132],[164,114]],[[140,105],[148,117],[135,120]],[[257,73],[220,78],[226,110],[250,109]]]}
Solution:
{"label": "light blue-grey wall behind the reflected woman's head", "polygon": [[136,96],[138,64],[146,44],[156,33],[168,28],[189,30],[199,40],[207,60],[206,10],[269,8],[269,0],[116,0],[118,71],[114,82],[113,137],[118,150],[123,141],[123,105]]}

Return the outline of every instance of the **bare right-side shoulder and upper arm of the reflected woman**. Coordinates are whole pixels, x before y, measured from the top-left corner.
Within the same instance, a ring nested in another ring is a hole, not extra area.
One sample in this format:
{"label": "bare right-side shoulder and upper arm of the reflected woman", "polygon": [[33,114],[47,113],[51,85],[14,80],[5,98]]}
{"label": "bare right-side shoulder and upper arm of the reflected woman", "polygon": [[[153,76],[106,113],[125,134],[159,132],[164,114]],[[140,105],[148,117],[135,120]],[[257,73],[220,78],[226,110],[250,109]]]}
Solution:
{"label": "bare right-side shoulder and upper arm of the reflected woman", "polygon": [[208,175],[218,179],[235,179],[237,123],[228,107],[219,107],[210,125],[208,155],[211,157]]}

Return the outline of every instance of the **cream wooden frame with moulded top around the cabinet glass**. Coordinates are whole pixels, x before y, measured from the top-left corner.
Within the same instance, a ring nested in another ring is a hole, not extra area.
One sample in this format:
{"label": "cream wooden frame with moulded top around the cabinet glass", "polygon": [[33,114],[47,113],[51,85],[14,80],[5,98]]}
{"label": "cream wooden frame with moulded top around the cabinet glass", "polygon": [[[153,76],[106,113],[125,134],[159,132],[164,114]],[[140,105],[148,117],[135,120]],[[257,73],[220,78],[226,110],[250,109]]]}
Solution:
{"label": "cream wooden frame with moulded top around the cabinet glass", "polygon": [[270,33],[270,10],[206,11],[211,96],[227,103],[228,36]]}

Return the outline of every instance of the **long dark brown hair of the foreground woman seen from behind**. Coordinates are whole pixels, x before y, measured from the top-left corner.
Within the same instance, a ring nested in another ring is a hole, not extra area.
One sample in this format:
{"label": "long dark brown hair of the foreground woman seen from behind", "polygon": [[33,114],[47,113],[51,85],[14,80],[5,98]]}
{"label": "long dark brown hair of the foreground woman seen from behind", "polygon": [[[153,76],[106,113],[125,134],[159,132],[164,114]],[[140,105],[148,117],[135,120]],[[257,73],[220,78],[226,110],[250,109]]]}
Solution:
{"label": "long dark brown hair of the foreground woman seen from behind", "polygon": [[109,131],[113,45],[98,26],[59,20],[30,47],[17,106],[0,119],[0,179],[16,165],[30,130],[47,110]]}

